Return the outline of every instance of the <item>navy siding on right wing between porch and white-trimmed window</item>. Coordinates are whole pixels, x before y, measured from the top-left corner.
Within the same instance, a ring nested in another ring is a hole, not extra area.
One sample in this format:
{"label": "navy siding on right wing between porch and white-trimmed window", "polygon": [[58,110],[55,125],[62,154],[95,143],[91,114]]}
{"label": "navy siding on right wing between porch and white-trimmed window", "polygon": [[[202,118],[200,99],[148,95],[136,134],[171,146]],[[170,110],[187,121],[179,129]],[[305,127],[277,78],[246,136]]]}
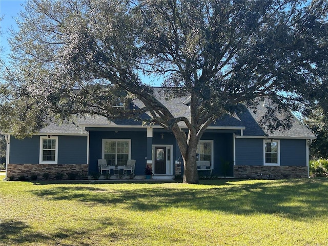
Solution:
{"label": "navy siding on right wing between porch and white-trimmed window", "polygon": [[263,166],[263,139],[236,138],[236,165]]}

